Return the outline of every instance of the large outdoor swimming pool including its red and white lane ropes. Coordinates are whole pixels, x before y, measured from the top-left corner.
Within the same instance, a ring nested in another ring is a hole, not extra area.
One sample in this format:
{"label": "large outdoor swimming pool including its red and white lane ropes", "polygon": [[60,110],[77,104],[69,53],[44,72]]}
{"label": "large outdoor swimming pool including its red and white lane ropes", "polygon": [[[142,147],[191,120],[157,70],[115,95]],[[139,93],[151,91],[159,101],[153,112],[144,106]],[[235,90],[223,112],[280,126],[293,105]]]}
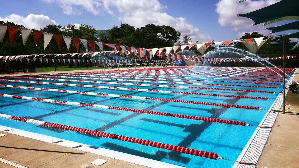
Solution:
{"label": "large outdoor swimming pool including its red and white lane ropes", "polygon": [[[288,74],[292,72],[292,68],[287,68]],[[215,152],[235,160],[257,128],[254,126],[259,125],[282,90],[280,83],[281,77],[269,69],[237,67],[175,67],[5,77],[0,80],[0,94],[97,106],[56,104],[3,95],[0,96],[0,110],[3,114]],[[122,109],[115,110],[111,106]],[[128,108],[147,111],[135,113]],[[147,114],[149,111],[176,115]],[[203,120],[242,121],[253,126],[203,121],[189,116],[200,116]],[[0,118],[0,124],[179,166],[231,167],[234,164],[12,119]]]}

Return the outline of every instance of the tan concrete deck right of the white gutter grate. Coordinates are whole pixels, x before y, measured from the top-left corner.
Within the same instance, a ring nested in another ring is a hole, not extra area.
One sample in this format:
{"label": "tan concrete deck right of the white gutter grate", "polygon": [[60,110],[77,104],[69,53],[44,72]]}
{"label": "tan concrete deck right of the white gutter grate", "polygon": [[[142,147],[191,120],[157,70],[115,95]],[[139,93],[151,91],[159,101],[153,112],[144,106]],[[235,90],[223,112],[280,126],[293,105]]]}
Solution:
{"label": "tan concrete deck right of the white gutter grate", "polygon": [[[298,71],[297,71],[298,72]],[[295,78],[299,81],[299,74]],[[257,167],[298,167],[299,94],[287,92],[285,114],[279,112]],[[282,111],[282,109],[281,109]]]}

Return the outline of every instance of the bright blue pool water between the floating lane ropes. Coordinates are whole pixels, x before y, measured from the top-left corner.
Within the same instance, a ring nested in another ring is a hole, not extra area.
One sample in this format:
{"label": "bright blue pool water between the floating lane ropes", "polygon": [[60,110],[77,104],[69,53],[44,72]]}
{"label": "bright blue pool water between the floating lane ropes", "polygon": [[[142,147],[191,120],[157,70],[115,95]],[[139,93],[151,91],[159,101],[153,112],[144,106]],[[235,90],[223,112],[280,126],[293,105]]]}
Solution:
{"label": "bright blue pool water between the floating lane ropes", "polygon": [[[192,70],[194,72],[199,70]],[[206,72],[208,72],[206,70]],[[221,71],[219,71],[221,72]],[[257,73],[255,73],[257,74]],[[188,76],[188,75],[186,75]],[[194,75],[192,75],[194,76]],[[200,75],[196,75],[200,77]],[[220,78],[220,77],[219,77]],[[7,78],[8,79],[8,78]],[[13,79],[13,78],[9,78]],[[120,78],[121,79],[121,78]],[[26,81],[40,81],[49,82],[46,80],[36,79],[16,79]],[[104,80],[98,80],[104,81]],[[246,83],[223,83],[219,84],[236,84],[236,85],[256,85]],[[225,80],[223,80],[225,81]],[[232,81],[232,80],[230,80]],[[53,81],[52,81],[53,82]],[[239,92],[239,91],[219,91],[219,90],[199,90],[199,89],[179,89],[166,87],[145,87],[145,86],[129,86],[129,85],[109,85],[97,83],[82,83],[82,82],[64,82],[56,81],[57,83],[72,83],[85,85],[99,85],[99,86],[119,86],[128,88],[142,88],[142,89],[157,89],[168,91],[185,91],[197,93],[213,93],[225,95],[240,95],[240,96],[259,96],[268,97],[271,100],[256,100],[256,99],[237,99],[231,97],[217,97],[217,96],[201,96],[201,95],[182,95],[169,93],[154,93],[154,92],[140,92],[140,91],[123,91],[112,89],[98,89],[85,87],[71,87],[71,86],[57,86],[33,83],[20,82],[5,82],[0,81],[0,84],[17,85],[17,86],[32,86],[42,88],[55,88],[73,91],[89,91],[111,93],[119,95],[145,96],[157,97],[167,99],[192,100],[224,104],[248,105],[258,106],[263,109],[269,109],[273,104],[274,99],[282,90],[282,85],[279,88],[257,88],[257,87],[237,87],[237,86],[208,86],[211,88],[231,88],[231,89],[250,89],[275,91],[275,93],[255,93],[255,92]],[[106,81],[107,82],[107,81]],[[115,82],[115,81],[113,81]],[[242,82],[242,81],[240,81]],[[254,82],[254,81],[244,81]],[[127,82],[135,83],[135,82]],[[146,82],[140,82],[146,83]],[[203,82],[211,83],[211,82]],[[270,82],[271,83],[271,82]],[[278,82],[273,82],[278,83]],[[146,83],[150,84],[150,83]],[[166,84],[164,84],[166,85]],[[174,86],[194,86],[194,85],[178,85]],[[201,87],[201,86],[199,86]],[[207,87],[207,86],[205,86]],[[132,100],[125,98],[113,98],[104,96],[90,96],[70,93],[59,93],[49,91],[35,91],[19,88],[0,87],[0,93],[47,98],[54,100],[65,100],[83,103],[93,103],[98,105],[110,105],[117,107],[127,107],[142,110],[152,110],[160,112],[169,112],[185,115],[194,115],[201,117],[221,118],[227,120],[244,121],[251,125],[259,125],[267,110],[250,110],[240,108],[224,108],[220,106],[210,105],[195,105],[175,102],[160,102],[151,100]],[[126,135],[129,137],[147,139],[151,141],[163,142],[183,147],[204,150],[208,152],[215,152],[219,156],[236,160],[249,138],[254,133],[256,127],[239,126],[231,124],[210,123],[204,121],[197,121],[192,119],[174,118],[168,116],[151,115],[151,114],[137,114],[126,111],[109,110],[109,109],[94,109],[90,107],[78,107],[70,105],[59,105],[44,103],[31,100],[21,100],[7,97],[0,97],[0,111],[4,114],[16,115],[20,117],[27,117],[47,122],[71,125],[75,127],[94,129],[105,131],[108,133],[115,133]],[[163,161],[179,166],[185,167],[231,167],[234,162],[226,160],[212,160],[204,157],[193,156],[184,153],[171,152],[155,147],[144,146],[125,141],[119,141],[110,138],[99,138],[88,136],[80,133],[75,133],[65,130],[57,130],[54,128],[47,128],[28,124],[12,119],[0,118],[0,125],[26,130],[34,133],[40,133],[56,138],[62,138],[74,142],[88,144],[90,146],[107,148],[119,152],[129,153],[136,156],[142,156],[158,161]]]}

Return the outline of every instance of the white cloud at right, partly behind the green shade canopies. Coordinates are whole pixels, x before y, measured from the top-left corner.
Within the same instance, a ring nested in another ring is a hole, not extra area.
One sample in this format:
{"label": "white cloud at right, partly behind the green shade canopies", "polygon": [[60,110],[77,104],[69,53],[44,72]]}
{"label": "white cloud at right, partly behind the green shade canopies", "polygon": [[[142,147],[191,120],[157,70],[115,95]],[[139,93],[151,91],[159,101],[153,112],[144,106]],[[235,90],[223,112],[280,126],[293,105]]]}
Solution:
{"label": "white cloud at right, partly behind the green shade canopies", "polygon": [[279,2],[279,0],[247,0],[242,3],[237,0],[221,0],[216,4],[215,10],[219,14],[218,23],[234,30],[257,29],[261,25],[252,26],[253,20],[237,15],[253,12],[276,2]]}

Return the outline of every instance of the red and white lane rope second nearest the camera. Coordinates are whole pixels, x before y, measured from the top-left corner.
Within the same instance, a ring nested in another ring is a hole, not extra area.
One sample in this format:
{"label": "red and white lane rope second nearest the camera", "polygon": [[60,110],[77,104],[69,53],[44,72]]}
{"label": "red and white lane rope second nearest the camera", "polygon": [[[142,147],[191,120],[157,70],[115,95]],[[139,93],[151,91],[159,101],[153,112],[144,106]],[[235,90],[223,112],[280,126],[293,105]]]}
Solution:
{"label": "red and white lane rope second nearest the camera", "polygon": [[89,104],[89,103],[79,103],[79,102],[64,101],[64,100],[52,100],[52,99],[27,97],[27,96],[17,96],[17,95],[9,95],[9,94],[2,94],[2,93],[0,93],[0,96],[8,97],[8,98],[40,101],[40,102],[46,102],[46,103],[54,103],[54,104],[74,105],[74,106],[82,106],[82,107],[90,107],[90,108],[98,108],[98,109],[121,110],[121,111],[129,111],[129,112],[134,112],[134,113],[163,115],[163,116],[169,116],[169,117],[201,120],[201,121],[206,121],[206,122],[216,122],[216,123],[223,123],[223,124],[249,126],[249,124],[246,124],[245,122],[242,122],[242,121],[214,119],[214,118],[209,118],[209,117],[199,117],[199,116],[193,116],[193,115],[164,113],[164,112],[150,111],[150,110],[139,110],[139,109],[131,109],[131,108],[115,107],[115,106],[107,106],[107,105],[95,105],[95,104]]}

